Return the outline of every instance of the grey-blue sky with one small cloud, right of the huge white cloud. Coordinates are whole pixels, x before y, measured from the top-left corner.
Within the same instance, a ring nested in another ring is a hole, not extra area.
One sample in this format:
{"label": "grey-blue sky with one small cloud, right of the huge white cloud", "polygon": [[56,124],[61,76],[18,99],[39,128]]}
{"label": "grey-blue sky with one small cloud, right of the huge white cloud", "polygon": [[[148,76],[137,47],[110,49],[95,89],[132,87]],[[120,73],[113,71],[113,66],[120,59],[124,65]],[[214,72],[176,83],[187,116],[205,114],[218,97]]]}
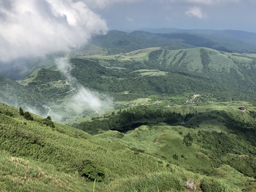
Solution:
{"label": "grey-blue sky with one small cloud, right of the huge white cloud", "polygon": [[256,32],[256,0],[120,1],[105,8],[93,8],[105,18],[110,29],[174,27]]}

